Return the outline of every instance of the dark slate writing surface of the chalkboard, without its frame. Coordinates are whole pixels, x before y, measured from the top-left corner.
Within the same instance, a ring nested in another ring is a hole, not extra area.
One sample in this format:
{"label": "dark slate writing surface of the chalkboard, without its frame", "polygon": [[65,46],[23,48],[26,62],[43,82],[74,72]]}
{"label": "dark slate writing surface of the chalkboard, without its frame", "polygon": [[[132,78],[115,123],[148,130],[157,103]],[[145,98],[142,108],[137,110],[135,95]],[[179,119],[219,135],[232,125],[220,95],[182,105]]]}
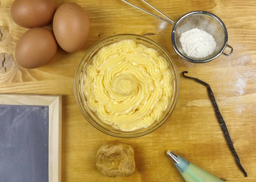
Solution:
{"label": "dark slate writing surface of the chalkboard, without its frame", "polygon": [[49,107],[0,105],[0,181],[48,182]]}

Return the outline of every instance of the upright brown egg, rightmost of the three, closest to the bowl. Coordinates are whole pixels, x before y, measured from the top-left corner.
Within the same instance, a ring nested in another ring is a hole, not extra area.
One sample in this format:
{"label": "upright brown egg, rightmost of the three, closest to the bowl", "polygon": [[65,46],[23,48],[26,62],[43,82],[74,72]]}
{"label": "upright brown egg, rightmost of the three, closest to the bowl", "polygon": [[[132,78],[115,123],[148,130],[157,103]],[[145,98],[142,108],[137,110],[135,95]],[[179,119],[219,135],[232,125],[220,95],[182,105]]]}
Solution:
{"label": "upright brown egg, rightmost of the three, closest to the bowl", "polygon": [[65,3],[55,12],[53,32],[58,44],[67,52],[82,49],[89,34],[89,18],[76,3]]}

